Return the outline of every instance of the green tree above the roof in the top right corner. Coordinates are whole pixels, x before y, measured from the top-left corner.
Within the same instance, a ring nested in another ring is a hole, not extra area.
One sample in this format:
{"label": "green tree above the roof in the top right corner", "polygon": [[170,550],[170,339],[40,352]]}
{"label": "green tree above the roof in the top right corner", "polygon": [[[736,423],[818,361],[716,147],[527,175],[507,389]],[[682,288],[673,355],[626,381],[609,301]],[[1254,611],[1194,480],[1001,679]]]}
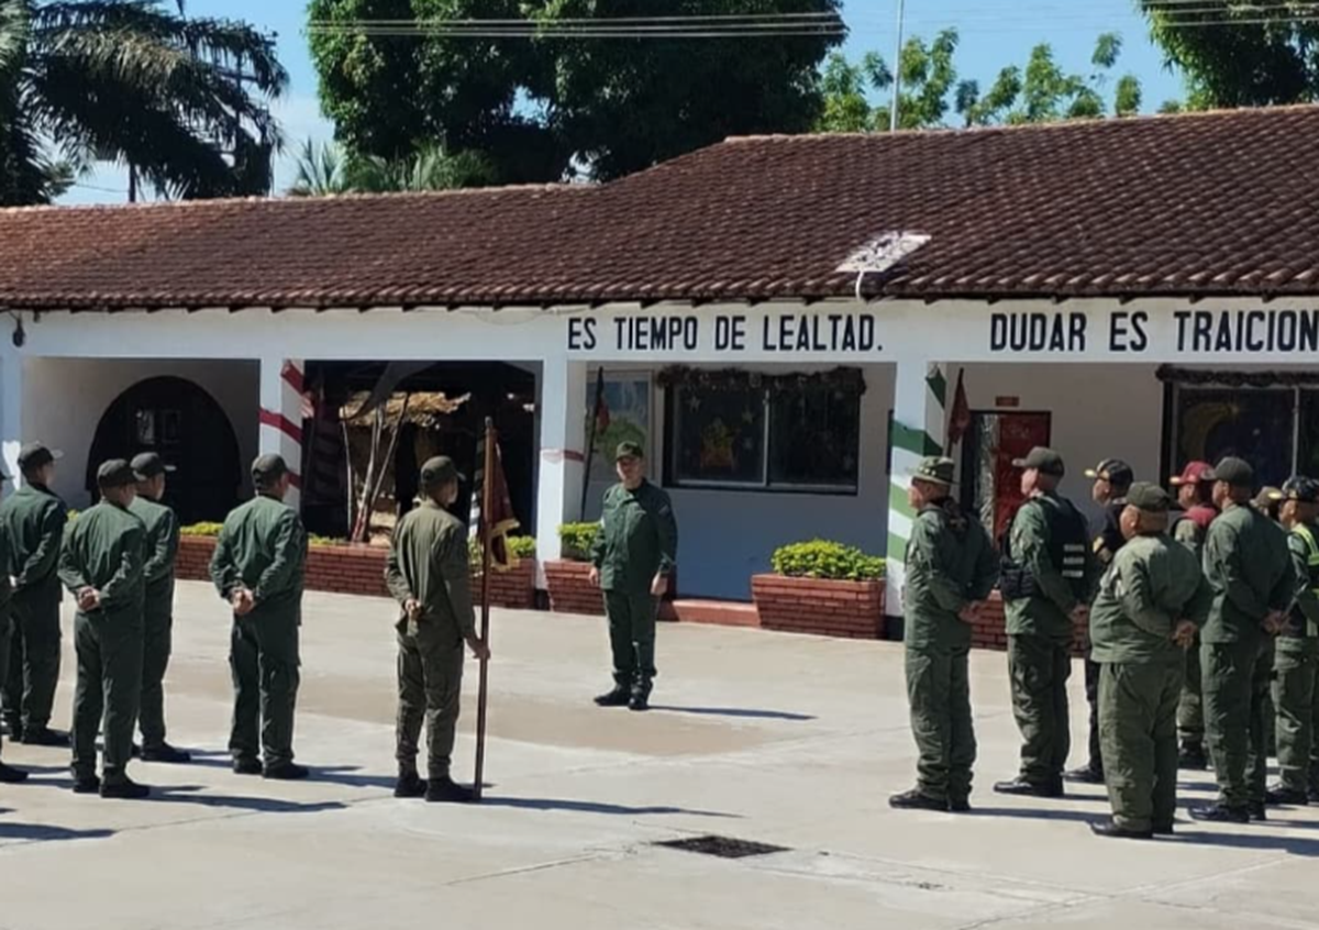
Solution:
{"label": "green tree above the roof in the top right corner", "polygon": [[1141,0],[1154,42],[1186,75],[1188,108],[1319,99],[1319,17],[1295,0]]}

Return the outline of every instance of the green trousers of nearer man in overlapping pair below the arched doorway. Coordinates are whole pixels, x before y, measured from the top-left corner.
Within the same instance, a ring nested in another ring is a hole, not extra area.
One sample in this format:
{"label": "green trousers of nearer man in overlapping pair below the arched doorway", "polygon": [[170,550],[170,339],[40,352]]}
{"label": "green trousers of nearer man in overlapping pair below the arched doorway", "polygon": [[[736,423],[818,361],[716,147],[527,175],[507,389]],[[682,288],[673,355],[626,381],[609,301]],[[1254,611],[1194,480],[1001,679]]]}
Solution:
{"label": "green trousers of nearer man in overlapping pair below the arched doorway", "polygon": [[142,695],[141,608],[74,617],[78,685],[74,689],[73,774],[96,774],[96,733],[104,740],[103,777],[123,781],[133,752]]}

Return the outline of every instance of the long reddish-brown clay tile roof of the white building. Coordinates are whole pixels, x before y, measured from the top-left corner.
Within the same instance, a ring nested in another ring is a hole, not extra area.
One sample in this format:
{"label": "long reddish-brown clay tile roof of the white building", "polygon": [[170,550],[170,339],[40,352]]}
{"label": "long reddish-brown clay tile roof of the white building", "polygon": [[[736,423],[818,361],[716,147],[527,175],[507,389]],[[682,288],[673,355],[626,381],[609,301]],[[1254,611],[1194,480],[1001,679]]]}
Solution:
{"label": "long reddish-brown clay tile roof of the white building", "polygon": [[737,139],[603,187],[0,211],[0,306],[1319,294],[1319,107]]}

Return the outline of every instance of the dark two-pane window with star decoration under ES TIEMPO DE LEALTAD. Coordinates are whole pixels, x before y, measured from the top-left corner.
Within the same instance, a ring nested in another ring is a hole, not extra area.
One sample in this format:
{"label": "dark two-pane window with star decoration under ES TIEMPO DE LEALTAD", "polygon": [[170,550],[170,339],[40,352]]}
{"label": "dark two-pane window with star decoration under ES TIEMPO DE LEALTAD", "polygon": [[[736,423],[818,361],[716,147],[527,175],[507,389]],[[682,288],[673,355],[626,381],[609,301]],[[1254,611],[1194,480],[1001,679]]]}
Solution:
{"label": "dark two-pane window with star decoration under ES TIEMPO DE LEALTAD", "polygon": [[754,375],[674,384],[669,483],[856,493],[861,389]]}

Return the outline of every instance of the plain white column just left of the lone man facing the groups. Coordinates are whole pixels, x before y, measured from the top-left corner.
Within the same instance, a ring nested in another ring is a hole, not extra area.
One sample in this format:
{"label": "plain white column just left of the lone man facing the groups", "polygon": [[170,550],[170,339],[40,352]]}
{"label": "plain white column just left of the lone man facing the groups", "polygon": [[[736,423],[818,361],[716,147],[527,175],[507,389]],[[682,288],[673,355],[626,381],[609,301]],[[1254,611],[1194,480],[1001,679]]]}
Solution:
{"label": "plain white column just left of the lone man facing the groups", "polygon": [[[559,525],[582,517],[586,468],[586,363],[565,356],[541,368],[541,460],[536,489],[536,558],[559,558]],[[537,569],[537,584],[545,571]]]}

